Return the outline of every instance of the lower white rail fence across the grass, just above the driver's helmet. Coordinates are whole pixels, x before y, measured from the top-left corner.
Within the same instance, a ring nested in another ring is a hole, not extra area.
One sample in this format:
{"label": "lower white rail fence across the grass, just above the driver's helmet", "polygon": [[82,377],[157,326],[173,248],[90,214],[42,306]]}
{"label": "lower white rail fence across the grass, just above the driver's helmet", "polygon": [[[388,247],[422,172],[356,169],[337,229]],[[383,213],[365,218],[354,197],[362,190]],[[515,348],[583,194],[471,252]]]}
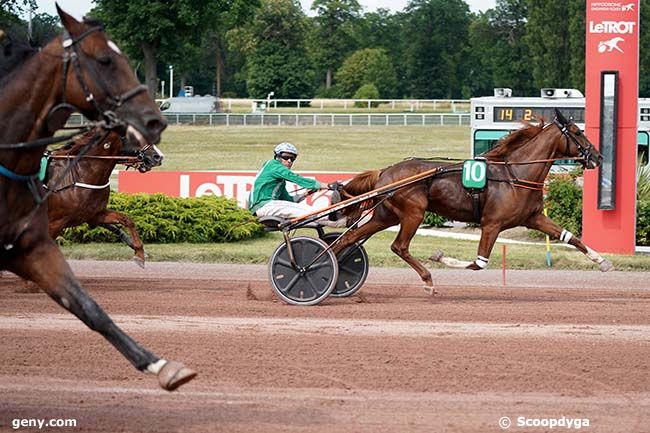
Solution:
{"label": "lower white rail fence across the grass, just above the driver's helmet", "polygon": [[[215,126],[469,126],[464,113],[324,114],[324,113],[163,113],[172,125]],[[87,120],[73,114],[68,126]]]}

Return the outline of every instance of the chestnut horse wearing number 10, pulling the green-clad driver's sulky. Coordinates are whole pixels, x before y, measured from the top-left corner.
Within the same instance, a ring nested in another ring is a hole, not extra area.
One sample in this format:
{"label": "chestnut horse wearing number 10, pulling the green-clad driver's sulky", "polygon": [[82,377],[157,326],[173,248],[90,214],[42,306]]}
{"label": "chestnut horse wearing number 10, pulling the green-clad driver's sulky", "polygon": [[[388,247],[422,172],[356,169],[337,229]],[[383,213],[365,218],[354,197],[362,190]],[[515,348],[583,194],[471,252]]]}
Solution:
{"label": "chestnut horse wearing number 10, pulling the green-clad driver's sulky", "polygon": [[[448,266],[474,270],[485,268],[498,234],[512,227],[525,226],[575,246],[598,263],[602,271],[612,269],[608,260],[543,214],[543,182],[556,159],[574,157],[585,168],[595,168],[602,161],[600,153],[574,123],[568,122],[556,110],[553,123],[544,125],[542,121],[539,125],[529,124],[504,137],[483,156],[487,162],[487,186],[476,194],[463,187],[462,169],[457,164],[406,160],[383,170],[367,171],[356,176],[345,185],[342,191],[344,198],[360,195],[427,170],[436,171],[421,182],[398,190],[378,204],[372,218],[344,235],[335,245],[334,252],[338,253],[360,239],[400,224],[391,250],[415,269],[422,278],[425,289],[432,293],[431,273],[409,253],[411,239],[428,210],[451,220],[478,222],[481,225],[481,239],[475,261],[464,262],[444,257],[441,253],[434,254],[433,260]],[[365,203],[366,207],[369,205],[371,203]],[[350,206],[345,212],[349,216],[358,215],[360,208]]]}

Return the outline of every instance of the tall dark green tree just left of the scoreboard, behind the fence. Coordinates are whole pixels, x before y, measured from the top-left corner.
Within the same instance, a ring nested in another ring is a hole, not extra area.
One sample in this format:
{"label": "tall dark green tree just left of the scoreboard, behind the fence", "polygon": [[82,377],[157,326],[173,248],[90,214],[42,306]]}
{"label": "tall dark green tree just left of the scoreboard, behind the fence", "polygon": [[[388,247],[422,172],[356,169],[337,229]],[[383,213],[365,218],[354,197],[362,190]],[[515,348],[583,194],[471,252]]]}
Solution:
{"label": "tall dark green tree just left of the scoreboard, behind the fence", "polygon": [[409,93],[416,98],[460,97],[469,7],[462,0],[411,0],[405,33]]}

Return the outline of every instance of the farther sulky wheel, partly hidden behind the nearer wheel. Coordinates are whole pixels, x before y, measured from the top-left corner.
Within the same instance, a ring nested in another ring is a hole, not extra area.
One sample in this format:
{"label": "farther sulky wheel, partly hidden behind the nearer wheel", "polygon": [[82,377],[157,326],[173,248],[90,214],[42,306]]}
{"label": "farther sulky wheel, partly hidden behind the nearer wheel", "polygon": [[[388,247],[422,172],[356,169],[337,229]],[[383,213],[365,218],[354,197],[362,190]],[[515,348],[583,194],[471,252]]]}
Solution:
{"label": "farther sulky wheel, partly hidden behind the nearer wheel", "polygon": [[[321,239],[328,245],[341,233],[327,233]],[[339,279],[332,290],[332,296],[344,298],[352,296],[363,286],[368,277],[368,254],[363,245],[350,245],[338,255]]]}

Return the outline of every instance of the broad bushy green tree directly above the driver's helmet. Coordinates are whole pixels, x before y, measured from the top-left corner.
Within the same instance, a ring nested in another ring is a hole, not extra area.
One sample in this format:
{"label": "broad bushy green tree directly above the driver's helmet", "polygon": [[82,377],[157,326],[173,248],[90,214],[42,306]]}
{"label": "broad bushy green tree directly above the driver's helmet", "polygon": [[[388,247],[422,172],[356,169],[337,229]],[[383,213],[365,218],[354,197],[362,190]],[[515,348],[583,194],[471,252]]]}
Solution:
{"label": "broad bushy green tree directly above the driver's helmet", "polygon": [[253,98],[311,98],[314,72],[306,49],[307,17],[297,0],[263,0],[253,20],[228,35],[246,57],[245,77]]}

